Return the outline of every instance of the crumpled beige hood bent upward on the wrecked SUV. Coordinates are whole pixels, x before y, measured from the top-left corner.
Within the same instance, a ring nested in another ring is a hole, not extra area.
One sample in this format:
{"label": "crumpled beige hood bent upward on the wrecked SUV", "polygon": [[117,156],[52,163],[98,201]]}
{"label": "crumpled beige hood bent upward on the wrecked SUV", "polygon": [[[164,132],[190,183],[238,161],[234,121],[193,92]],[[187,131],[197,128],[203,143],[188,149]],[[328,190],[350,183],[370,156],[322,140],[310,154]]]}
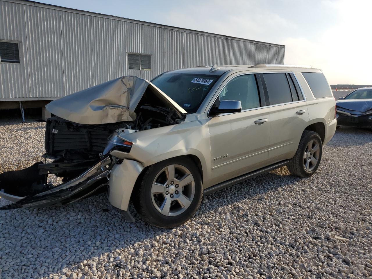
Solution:
{"label": "crumpled beige hood bent upward on the wrecked SUV", "polygon": [[78,124],[97,125],[133,121],[134,110],[146,89],[156,94],[170,107],[187,113],[164,92],[148,80],[123,76],[50,102],[49,112]]}

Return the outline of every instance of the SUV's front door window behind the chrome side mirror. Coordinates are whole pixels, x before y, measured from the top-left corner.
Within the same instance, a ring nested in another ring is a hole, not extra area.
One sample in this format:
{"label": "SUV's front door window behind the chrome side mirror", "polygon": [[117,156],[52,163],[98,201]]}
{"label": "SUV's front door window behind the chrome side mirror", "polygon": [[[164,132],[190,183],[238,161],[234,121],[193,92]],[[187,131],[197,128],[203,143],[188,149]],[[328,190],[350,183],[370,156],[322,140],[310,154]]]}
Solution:
{"label": "SUV's front door window behind the chrome side mirror", "polygon": [[237,100],[241,109],[253,109],[260,106],[260,97],[254,74],[234,77],[219,93],[219,100]]}

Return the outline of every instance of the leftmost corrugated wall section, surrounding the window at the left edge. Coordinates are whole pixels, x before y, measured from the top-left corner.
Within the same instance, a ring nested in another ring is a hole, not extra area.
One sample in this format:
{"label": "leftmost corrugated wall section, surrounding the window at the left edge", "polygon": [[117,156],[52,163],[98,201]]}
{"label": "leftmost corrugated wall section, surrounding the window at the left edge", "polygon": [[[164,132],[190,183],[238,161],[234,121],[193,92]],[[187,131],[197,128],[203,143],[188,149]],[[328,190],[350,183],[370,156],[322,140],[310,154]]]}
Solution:
{"label": "leftmost corrugated wall section, surrounding the window at the left edge", "polygon": [[0,63],[0,98],[31,97],[24,6],[0,2],[0,40],[19,42],[20,63]]}

